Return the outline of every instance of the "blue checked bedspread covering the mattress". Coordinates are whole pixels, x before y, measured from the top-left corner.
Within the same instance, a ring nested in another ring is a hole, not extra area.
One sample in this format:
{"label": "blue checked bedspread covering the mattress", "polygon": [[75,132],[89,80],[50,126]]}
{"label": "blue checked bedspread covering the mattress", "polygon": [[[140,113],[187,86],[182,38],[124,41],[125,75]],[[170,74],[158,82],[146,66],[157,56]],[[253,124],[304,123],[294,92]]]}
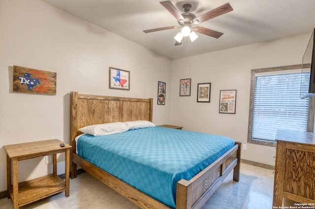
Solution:
{"label": "blue checked bedspread covering the mattress", "polygon": [[78,155],[175,208],[176,183],[191,179],[234,146],[228,137],[165,127],[82,135]]}

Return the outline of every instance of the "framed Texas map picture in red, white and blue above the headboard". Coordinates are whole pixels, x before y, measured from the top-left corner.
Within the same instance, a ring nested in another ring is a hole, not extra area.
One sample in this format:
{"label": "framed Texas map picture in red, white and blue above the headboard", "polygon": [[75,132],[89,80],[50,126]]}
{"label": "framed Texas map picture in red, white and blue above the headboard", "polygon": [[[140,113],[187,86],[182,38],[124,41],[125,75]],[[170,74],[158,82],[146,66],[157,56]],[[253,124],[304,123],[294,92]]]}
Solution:
{"label": "framed Texas map picture in red, white and blue above the headboard", "polygon": [[130,90],[130,72],[109,67],[109,89]]}

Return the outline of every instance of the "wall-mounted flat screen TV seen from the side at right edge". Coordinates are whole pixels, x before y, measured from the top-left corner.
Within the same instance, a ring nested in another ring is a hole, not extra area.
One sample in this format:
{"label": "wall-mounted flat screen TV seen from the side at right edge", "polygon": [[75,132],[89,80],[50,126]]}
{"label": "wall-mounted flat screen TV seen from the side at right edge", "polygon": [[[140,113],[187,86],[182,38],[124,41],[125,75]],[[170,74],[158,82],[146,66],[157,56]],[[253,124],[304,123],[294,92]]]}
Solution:
{"label": "wall-mounted flat screen TV seen from the side at right edge", "polygon": [[309,98],[315,96],[315,54],[314,54],[314,38],[315,29],[312,32],[309,44],[306,47],[302,60],[302,73],[310,72],[309,91],[301,95],[301,98]]}

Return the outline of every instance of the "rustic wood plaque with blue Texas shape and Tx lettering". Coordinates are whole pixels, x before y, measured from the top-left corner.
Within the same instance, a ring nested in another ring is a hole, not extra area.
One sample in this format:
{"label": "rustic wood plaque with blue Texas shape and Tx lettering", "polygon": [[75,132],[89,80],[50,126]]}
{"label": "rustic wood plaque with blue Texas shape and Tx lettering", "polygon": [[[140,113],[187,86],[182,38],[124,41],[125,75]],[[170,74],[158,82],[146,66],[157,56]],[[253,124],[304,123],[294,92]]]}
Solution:
{"label": "rustic wood plaque with blue Texas shape and Tx lettering", "polygon": [[13,92],[56,95],[57,73],[13,65]]}

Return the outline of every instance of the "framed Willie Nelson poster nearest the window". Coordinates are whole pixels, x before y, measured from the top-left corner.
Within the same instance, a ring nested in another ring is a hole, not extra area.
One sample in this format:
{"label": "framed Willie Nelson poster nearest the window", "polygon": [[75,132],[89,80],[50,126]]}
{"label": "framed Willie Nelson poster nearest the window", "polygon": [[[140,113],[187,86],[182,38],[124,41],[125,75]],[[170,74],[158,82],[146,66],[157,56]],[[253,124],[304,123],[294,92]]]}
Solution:
{"label": "framed Willie Nelson poster nearest the window", "polygon": [[236,90],[221,90],[219,113],[235,114]]}

